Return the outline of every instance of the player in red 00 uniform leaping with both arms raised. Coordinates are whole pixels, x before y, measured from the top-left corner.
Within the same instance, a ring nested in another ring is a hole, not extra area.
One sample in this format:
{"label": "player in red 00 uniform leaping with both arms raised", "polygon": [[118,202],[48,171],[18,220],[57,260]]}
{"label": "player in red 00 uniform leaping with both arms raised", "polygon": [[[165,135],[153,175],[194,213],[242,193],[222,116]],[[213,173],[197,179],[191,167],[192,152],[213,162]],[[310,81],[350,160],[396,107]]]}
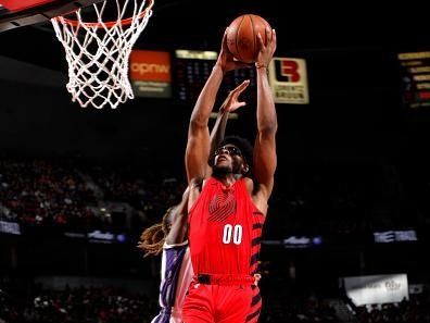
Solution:
{"label": "player in red 00 uniform leaping with both arms raised", "polygon": [[256,322],[260,314],[254,273],[277,164],[277,116],[267,76],[276,34],[270,29],[265,33],[266,42],[257,37],[254,63],[257,134],[253,153],[245,140],[227,137],[211,158],[213,167],[207,167],[207,124],[216,95],[228,71],[244,67],[227,49],[227,29],[217,62],[191,114],[186,169],[192,183],[188,222],[194,277],[184,303],[185,323]]}

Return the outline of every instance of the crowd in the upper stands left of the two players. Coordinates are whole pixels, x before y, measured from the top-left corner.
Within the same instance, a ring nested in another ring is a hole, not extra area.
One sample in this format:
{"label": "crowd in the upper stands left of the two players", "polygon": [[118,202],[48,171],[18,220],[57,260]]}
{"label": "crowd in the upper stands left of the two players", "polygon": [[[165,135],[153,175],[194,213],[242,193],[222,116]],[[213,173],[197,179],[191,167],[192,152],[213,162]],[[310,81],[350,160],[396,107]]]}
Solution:
{"label": "crowd in the upper stands left of the two players", "polygon": [[166,208],[178,201],[182,189],[176,178],[151,178],[123,166],[0,160],[0,219],[28,226],[110,231],[114,225],[104,206],[117,202],[130,206],[132,223],[137,224],[119,221],[124,226],[121,229],[140,231],[159,221]]}

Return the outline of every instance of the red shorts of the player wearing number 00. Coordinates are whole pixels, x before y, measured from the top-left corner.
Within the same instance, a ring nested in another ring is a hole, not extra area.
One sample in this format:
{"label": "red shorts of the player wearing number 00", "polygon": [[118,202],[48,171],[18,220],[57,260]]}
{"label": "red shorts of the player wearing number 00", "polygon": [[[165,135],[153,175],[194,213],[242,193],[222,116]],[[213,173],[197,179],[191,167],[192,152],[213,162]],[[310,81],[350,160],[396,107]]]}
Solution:
{"label": "red shorts of the player wearing number 00", "polygon": [[252,279],[243,283],[192,282],[185,299],[185,323],[244,323],[254,295]]}

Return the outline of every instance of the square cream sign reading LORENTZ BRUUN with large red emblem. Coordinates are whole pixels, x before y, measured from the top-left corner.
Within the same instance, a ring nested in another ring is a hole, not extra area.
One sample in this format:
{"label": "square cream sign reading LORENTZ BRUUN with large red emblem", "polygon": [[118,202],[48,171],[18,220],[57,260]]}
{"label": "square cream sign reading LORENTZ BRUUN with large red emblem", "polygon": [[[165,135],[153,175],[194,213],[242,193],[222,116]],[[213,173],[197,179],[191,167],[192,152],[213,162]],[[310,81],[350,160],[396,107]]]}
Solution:
{"label": "square cream sign reading LORENTZ BRUUN with large red emblem", "polygon": [[269,66],[269,83],[276,103],[309,103],[305,60],[274,58]]}

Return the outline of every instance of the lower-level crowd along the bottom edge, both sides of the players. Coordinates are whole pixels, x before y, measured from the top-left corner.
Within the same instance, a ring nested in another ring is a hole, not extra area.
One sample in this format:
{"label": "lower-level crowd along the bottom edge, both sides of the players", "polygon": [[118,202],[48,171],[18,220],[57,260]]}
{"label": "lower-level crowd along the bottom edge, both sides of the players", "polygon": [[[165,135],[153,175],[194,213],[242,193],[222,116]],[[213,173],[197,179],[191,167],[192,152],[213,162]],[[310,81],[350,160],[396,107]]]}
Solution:
{"label": "lower-level crowd along the bottom edge, both sides of the players", "polygon": [[[313,291],[262,288],[261,323],[341,323],[331,299]],[[423,295],[400,303],[355,308],[359,323],[428,323],[430,302]],[[157,313],[156,294],[85,287],[47,289],[36,284],[0,283],[0,322],[4,323],[149,323]]]}

